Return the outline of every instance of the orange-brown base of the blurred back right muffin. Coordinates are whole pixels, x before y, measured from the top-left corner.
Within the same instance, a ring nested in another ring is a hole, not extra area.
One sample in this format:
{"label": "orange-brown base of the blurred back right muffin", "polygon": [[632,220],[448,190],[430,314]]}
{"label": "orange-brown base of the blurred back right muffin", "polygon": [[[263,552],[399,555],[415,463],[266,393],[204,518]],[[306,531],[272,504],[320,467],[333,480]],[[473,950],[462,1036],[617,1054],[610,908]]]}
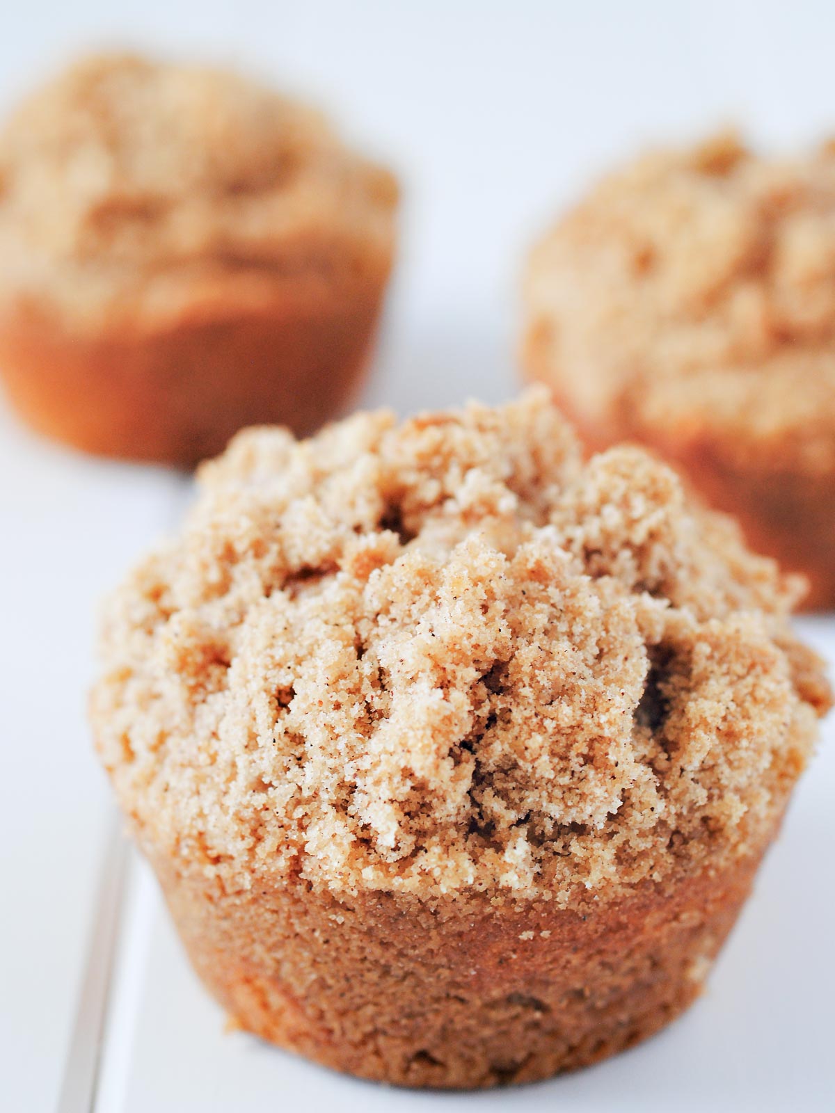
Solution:
{"label": "orange-brown base of the blurred back right muffin", "polygon": [[675,430],[661,435],[658,430],[637,429],[627,414],[611,424],[592,422],[551,385],[550,357],[540,348],[534,329],[522,351],[525,378],[549,386],[590,453],[623,440],[654,450],[711,506],[737,518],[755,552],[775,558],[786,572],[799,572],[808,580],[798,610],[835,608],[835,476],[813,477],[768,466],[757,471],[754,461],[736,465],[728,460],[727,445],[707,431],[704,436],[679,436]]}

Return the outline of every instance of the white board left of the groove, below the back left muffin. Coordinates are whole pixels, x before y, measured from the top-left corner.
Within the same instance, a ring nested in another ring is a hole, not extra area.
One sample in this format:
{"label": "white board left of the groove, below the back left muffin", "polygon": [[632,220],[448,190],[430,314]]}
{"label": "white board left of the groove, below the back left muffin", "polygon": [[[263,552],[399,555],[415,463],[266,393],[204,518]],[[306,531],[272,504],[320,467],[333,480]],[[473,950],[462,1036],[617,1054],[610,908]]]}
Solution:
{"label": "white board left of the groove, below the back left muffin", "polygon": [[[173,480],[37,443],[0,413],[0,1093],[57,1091],[106,786],[84,718],[95,600],[161,523]],[[11,1099],[10,1099],[11,1101]]]}

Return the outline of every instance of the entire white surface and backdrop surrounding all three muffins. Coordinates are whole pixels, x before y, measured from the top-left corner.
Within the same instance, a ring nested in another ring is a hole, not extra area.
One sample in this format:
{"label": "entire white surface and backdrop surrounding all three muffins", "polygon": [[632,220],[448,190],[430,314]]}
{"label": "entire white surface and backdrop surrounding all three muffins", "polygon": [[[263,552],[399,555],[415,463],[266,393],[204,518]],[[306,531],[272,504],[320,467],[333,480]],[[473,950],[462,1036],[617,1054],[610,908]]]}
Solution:
{"label": "entire white surface and backdrop surrounding all three muffins", "polygon": [[[77,46],[127,41],[253,63],[390,157],[406,187],[403,247],[365,401],[404,412],[510,394],[523,249],[612,159],[728,119],[782,144],[835,127],[835,9],[823,2],[7,0],[0,11],[3,105]],[[52,1107],[69,1033],[107,800],[82,713],[94,603],[180,498],[173,476],[52,449],[0,406],[3,1110]],[[134,893],[99,1113],[302,1101],[312,1113],[832,1109],[828,733],[710,994],[646,1047],[493,1096],[337,1078],[222,1036],[146,881]]]}

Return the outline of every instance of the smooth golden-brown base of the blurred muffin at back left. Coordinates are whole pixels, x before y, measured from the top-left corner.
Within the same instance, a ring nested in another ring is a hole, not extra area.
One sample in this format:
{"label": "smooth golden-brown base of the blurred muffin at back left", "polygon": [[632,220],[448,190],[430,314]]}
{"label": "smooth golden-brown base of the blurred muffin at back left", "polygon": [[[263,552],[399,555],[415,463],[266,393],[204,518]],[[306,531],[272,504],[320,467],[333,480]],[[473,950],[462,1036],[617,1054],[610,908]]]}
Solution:
{"label": "smooth golden-brown base of the blurred muffin at back left", "polygon": [[245,425],[315,431],[363,375],[382,283],[354,298],[278,297],[229,315],[185,315],[77,336],[46,314],[0,321],[0,375],[40,433],[85,452],[190,466]]}

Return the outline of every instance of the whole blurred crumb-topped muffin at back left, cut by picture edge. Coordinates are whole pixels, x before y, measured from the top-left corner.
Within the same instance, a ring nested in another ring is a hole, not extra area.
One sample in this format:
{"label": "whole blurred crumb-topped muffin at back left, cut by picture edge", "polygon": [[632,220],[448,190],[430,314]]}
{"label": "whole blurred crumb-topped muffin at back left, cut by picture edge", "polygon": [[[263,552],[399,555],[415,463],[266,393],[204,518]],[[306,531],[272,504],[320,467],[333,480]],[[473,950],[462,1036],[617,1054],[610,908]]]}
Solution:
{"label": "whole blurred crumb-topped muffin at back left, cut by picture edge", "polygon": [[364,371],[396,186],[318,112],[232,72],[115,55],[0,135],[0,375],[88,452],[189,465],[306,434]]}

